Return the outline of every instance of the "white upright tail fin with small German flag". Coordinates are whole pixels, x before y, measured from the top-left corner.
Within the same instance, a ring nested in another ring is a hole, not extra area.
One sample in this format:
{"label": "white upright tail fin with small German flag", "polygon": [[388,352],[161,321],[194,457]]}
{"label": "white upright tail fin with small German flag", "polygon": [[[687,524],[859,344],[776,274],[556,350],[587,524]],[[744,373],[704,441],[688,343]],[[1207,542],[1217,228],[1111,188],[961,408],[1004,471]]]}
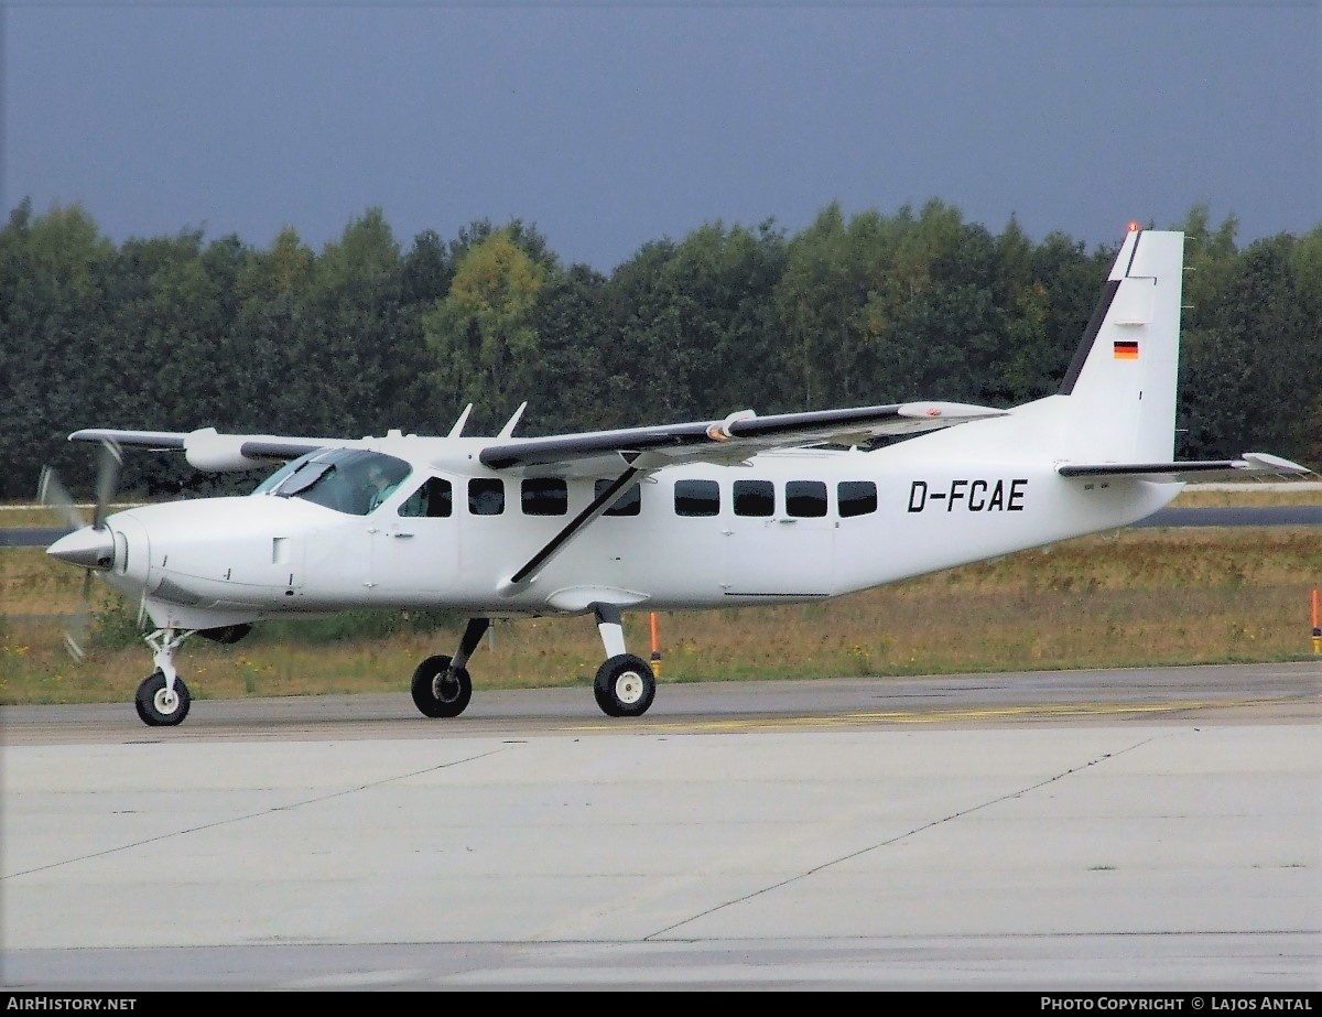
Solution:
{"label": "white upright tail fin with small German flag", "polygon": [[1185,234],[1134,230],[1060,385],[1075,455],[1165,463],[1175,450]]}

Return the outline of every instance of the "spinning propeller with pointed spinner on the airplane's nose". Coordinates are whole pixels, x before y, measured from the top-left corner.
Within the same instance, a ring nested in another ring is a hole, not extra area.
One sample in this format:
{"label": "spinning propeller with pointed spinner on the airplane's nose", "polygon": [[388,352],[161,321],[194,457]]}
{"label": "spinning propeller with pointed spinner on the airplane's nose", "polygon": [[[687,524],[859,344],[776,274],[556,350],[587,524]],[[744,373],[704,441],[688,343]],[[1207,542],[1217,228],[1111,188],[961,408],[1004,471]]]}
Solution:
{"label": "spinning propeller with pointed spinner on the airplane's nose", "polygon": [[[115,557],[115,541],[106,526],[106,510],[119,485],[119,472],[124,466],[124,455],[114,442],[102,442],[97,462],[97,504],[91,528],[74,504],[69,489],[61,483],[59,475],[52,467],[44,467],[37,484],[37,500],[49,508],[69,533],[50,548],[56,558],[73,565],[82,565],[83,585],[78,598],[78,610],[69,619],[65,630],[65,647],[74,660],[87,656],[87,636],[91,632],[91,582],[93,573],[110,567]],[[74,536],[77,534],[77,536]]]}

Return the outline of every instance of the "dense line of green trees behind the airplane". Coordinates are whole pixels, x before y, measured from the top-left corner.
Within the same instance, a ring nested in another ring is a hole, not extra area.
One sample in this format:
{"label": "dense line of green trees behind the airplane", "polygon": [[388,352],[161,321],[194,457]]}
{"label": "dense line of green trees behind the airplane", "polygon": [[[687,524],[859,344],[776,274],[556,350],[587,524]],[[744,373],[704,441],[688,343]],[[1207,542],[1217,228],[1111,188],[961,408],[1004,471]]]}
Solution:
{"label": "dense line of green trees behind the airplane", "polygon": [[[1244,249],[1206,206],[1187,235],[1182,458],[1270,451],[1322,464],[1322,225]],[[1120,237],[1117,235],[1117,245]],[[402,243],[379,209],[315,251],[201,230],[114,243],[81,206],[0,230],[0,497],[41,467],[90,491],[79,427],[361,436],[625,427],[890,403],[1009,406],[1055,391],[1116,247],[998,234],[932,200],[824,208],[798,233],[711,222],[609,274],[535,227],[475,221]],[[250,479],[131,455],[123,491]]]}

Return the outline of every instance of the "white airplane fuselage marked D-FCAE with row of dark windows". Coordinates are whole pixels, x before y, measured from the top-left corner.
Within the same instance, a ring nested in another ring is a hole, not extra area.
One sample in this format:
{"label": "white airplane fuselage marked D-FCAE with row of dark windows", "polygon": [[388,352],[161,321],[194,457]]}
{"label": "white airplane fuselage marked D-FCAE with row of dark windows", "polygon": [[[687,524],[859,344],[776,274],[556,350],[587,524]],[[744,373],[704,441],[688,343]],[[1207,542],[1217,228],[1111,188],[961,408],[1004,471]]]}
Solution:
{"label": "white airplane fuselage marked D-FCAE with row of dark windows", "polygon": [[[144,598],[157,624],[180,628],[353,607],[500,616],[603,600],[802,602],[1122,526],[1181,487],[1068,480],[1040,460],[925,462],[906,444],[660,469],[513,587],[509,577],[613,476],[447,469],[394,447],[407,476],[370,509],[272,488],[111,516],[115,563],[104,575]],[[446,504],[420,513],[419,497],[436,503],[436,492]]]}

